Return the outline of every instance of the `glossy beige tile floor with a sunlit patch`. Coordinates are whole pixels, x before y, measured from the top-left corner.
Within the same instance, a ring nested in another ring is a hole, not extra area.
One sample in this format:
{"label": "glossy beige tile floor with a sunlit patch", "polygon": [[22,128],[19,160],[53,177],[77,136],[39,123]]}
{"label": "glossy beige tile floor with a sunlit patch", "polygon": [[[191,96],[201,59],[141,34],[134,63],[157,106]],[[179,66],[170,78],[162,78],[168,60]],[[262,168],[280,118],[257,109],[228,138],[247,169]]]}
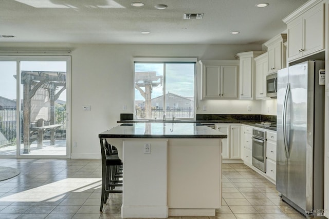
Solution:
{"label": "glossy beige tile floor with a sunlit patch", "polygon": [[[0,182],[0,218],[121,218],[121,194],[100,207],[100,160],[0,159],[21,174]],[[223,206],[215,218],[304,218],[280,201],[275,185],[243,164],[223,164]]]}

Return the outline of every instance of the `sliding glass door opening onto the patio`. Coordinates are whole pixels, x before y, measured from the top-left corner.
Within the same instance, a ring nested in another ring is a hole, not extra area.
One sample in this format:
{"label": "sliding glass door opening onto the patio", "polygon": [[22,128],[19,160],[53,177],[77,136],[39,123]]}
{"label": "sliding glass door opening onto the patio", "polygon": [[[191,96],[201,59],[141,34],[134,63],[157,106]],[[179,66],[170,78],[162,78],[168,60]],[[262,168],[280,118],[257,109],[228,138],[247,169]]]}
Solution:
{"label": "sliding glass door opening onto the patio", "polygon": [[[17,57],[15,62],[0,63],[0,72],[7,75],[5,81],[12,90],[9,95],[0,89],[0,98],[6,98],[8,106],[10,103],[15,105],[9,116],[15,121],[15,128],[7,127],[6,131],[15,130],[16,140],[11,140],[7,146],[0,142],[3,145],[0,147],[6,148],[0,148],[0,156],[67,158],[70,58]],[[9,69],[13,69],[12,72]],[[17,103],[16,99],[20,101]],[[8,110],[3,113],[8,114]]]}

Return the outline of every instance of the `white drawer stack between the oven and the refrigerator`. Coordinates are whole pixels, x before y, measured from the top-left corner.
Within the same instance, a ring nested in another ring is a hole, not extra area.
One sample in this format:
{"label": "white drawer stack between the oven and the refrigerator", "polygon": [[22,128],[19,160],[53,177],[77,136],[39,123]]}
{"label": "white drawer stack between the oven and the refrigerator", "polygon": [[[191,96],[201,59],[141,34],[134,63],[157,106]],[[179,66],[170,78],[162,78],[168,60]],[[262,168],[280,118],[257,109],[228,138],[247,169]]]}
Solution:
{"label": "white drawer stack between the oven and the refrigerator", "polygon": [[276,181],[277,174],[277,132],[266,131],[266,175]]}

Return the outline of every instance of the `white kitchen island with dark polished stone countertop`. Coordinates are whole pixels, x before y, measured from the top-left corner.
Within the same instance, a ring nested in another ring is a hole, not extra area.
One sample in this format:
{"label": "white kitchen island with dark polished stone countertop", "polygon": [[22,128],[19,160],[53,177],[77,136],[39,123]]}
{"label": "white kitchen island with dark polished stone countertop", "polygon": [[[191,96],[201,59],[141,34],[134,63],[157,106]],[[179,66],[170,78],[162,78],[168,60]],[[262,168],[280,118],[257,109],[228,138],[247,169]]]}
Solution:
{"label": "white kitchen island with dark polished stone countertop", "polygon": [[99,137],[123,162],[123,218],[215,216],[221,207],[226,134],[197,123],[134,123]]}

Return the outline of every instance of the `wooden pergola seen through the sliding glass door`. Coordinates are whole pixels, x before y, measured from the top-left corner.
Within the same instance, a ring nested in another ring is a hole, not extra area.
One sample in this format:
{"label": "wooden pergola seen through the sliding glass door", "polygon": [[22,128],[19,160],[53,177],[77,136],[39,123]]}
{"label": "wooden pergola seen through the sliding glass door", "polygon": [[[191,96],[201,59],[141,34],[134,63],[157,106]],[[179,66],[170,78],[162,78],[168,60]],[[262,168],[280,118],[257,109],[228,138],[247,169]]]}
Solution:
{"label": "wooden pergola seen through the sliding glass door", "polygon": [[[49,125],[55,125],[55,101],[66,89],[66,72],[52,71],[22,71],[21,84],[23,85],[23,138],[24,151],[30,152],[31,134],[31,98],[38,89],[48,91],[50,100],[50,120]],[[56,88],[62,87],[57,93]],[[55,129],[50,129],[50,144],[54,145]]]}

